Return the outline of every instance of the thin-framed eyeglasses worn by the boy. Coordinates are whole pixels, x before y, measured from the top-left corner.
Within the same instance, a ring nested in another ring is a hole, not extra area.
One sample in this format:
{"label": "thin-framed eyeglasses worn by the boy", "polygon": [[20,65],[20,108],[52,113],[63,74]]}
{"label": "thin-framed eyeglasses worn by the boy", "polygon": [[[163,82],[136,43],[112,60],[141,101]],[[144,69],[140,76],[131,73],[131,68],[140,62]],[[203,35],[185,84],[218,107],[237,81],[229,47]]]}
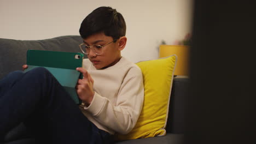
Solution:
{"label": "thin-framed eyeglasses worn by the boy", "polygon": [[80,47],[80,50],[81,50],[84,54],[86,54],[86,55],[89,54],[90,49],[92,49],[92,51],[93,51],[96,55],[102,55],[102,53],[103,53],[103,47],[104,47],[104,46],[107,46],[107,45],[109,45],[109,44],[111,44],[111,43],[113,43],[114,41],[116,41],[116,39],[113,40],[113,41],[111,41],[110,43],[108,43],[108,44],[106,44],[106,45],[103,45],[103,46],[101,46],[101,45],[92,45],[92,46],[88,46],[88,45],[86,45],[86,44],[80,44],[79,47]]}

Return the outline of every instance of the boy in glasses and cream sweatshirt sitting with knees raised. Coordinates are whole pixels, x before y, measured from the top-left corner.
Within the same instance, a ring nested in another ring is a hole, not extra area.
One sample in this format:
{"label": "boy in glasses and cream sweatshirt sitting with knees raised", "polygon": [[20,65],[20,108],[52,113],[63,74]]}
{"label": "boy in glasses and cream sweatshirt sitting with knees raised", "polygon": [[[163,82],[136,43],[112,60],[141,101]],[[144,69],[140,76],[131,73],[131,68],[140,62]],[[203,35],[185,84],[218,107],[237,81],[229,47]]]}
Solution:
{"label": "boy in glasses and cream sweatshirt sitting with knees raised", "polygon": [[76,87],[82,105],[73,103],[48,70],[14,71],[0,81],[0,140],[20,122],[34,131],[37,143],[110,143],[110,135],[135,126],[144,89],[141,70],[121,57],[127,40],[123,16],[97,8],[79,32],[79,47],[88,55],[77,68],[84,76]]}

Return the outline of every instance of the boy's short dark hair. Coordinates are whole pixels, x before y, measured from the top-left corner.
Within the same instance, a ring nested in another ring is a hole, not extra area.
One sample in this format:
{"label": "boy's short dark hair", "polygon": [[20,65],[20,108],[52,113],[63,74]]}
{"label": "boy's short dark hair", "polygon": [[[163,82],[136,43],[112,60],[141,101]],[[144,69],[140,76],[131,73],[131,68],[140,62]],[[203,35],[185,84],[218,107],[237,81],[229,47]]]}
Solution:
{"label": "boy's short dark hair", "polygon": [[111,7],[100,7],[92,11],[81,23],[79,33],[83,39],[92,34],[104,32],[114,40],[125,36],[124,17]]}

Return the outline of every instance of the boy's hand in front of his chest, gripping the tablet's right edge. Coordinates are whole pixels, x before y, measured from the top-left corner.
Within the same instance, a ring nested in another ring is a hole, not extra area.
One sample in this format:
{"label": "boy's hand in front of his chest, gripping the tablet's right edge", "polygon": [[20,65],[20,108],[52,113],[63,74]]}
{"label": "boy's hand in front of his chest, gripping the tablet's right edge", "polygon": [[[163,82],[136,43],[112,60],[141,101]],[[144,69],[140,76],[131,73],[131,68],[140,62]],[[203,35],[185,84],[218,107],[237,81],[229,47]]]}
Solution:
{"label": "boy's hand in front of his chest, gripping the tablet's right edge", "polygon": [[83,73],[84,78],[78,79],[77,94],[79,98],[86,103],[87,106],[91,104],[92,99],[94,98],[94,80],[91,78],[91,75],[84,68],[77,68],[77,71]]}

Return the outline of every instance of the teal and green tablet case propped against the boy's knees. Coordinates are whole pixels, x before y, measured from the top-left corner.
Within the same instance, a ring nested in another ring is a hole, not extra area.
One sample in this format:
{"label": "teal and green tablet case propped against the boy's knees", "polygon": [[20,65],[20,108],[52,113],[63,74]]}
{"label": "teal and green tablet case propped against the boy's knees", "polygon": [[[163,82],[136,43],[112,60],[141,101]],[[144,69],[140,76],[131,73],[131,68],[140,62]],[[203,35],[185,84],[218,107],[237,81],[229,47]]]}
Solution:
{"label": "teal and green tablet case propped against the boy's knees", "polygon": [[48,69],[75,103],[80,104],[81,100],[77,95],[75,86],[79,78],[83,79],[83,75],[75,69],[83,66],[83,57],[83,53],[79,52],[28,50],[28,68],[25,72],[37,67]]}

